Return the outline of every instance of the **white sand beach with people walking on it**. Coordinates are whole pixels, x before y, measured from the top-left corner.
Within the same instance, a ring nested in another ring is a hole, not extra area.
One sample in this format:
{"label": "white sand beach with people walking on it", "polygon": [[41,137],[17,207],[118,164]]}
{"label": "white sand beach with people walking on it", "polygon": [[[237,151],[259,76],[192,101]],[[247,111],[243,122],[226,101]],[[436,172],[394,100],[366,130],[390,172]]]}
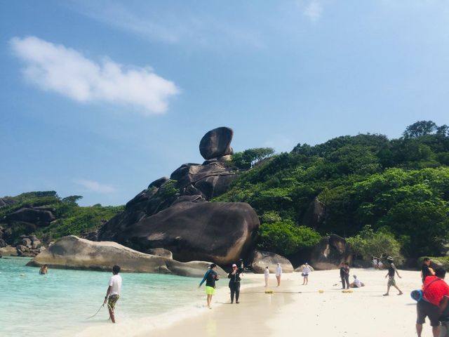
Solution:
{"label": "white sand beach with people walking on it", "polygon": [[[351,269],[354,274],[366,286],[352,293],[342,293],[338,270],[312,272],[307,286],[302,286],[296,272],[283,274],[279,287],[271,275],[272,294],[264,293],[263,275],[245,274],[240,304],[229,304],[229,291],[223,287],[217,290],[210,310],[205,299],[192,312],[96,326],[79,336],[415,336],[416,308],[409,294],[420,287],[420,272],[399,270],[402,278],[396,277],[396,282],[402,296],[394,288],[389,296],[382,296],[386,270]],[[246,280],[260,286],[245,284]],[[227,284],[227,279],[222,281]],[[170,324],[173,319],[177,321]],[[422,336],[431,336],[429,324],[424,324]]]}

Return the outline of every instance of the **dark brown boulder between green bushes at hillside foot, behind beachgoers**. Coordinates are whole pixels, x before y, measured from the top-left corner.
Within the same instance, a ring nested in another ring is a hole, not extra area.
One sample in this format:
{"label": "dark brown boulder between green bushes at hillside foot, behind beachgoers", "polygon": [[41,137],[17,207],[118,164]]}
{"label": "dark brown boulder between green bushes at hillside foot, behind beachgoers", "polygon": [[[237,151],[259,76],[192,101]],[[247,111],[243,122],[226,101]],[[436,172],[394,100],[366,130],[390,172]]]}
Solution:
{"label": "dark brown boulder between green bushes at hillside foot, behind beachgoers", "polygon": [[352,251],[346,240],[335,234],[323,237],[311,253],[310,264],[316,270],[337,269],[342,262],[352,262]]}

